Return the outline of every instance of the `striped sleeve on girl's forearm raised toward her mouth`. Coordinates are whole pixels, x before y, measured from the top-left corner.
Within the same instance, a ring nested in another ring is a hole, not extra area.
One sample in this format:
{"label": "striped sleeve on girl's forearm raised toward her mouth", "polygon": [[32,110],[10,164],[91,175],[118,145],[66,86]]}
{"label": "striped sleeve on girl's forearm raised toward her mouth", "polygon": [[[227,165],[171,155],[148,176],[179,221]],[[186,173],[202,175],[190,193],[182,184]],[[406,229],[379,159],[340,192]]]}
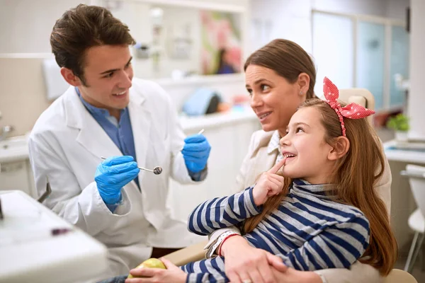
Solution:
{"label": "striped sleeve on girl's forearm raised toward her mouth", "polygon": [[188,230],[204,236],[259,214],[262,206],[255,205],[252,190],[248,187],[229,197],[216,197],[199,204],[188,217]]}

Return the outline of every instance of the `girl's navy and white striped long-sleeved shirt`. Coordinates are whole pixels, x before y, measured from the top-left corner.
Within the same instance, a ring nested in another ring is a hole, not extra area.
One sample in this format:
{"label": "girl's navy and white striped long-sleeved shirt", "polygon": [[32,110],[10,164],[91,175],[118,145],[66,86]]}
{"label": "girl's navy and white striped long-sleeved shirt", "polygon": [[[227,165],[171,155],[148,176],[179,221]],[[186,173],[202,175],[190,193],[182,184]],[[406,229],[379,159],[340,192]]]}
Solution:
{"label": "girl's navy and white striped long-sleeved shirt", "polygon": [[[251,246],[278,255],[296,270],[350,267],[369,244],[370,228],[356,207],[334,202],[325,191],[329,185],[294,180],[278,209],[243,237]],[[253,187],[229,197],[200,204],[188,219],[188,229],[208,235],[220,228],[242,224],[261,212]],[[191,262],[181,267],[187,282],[228,282],[224,258]]]}

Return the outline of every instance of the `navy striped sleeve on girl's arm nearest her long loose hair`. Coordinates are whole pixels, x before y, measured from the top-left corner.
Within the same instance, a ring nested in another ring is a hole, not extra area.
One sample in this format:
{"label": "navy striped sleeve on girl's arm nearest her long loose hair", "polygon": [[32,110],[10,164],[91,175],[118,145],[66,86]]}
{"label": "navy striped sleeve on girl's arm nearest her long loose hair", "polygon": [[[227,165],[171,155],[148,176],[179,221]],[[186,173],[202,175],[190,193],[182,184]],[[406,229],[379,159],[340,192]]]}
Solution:
{"label": "navy striped sleeve on girl's arm nearest her long loose hair", "polygon": [[348,268],[368,247],[369,231],[365,216],[354,216],[346,222],[329,226],[300,248],[278,256],[283,258],[285,265],[296,270]]}

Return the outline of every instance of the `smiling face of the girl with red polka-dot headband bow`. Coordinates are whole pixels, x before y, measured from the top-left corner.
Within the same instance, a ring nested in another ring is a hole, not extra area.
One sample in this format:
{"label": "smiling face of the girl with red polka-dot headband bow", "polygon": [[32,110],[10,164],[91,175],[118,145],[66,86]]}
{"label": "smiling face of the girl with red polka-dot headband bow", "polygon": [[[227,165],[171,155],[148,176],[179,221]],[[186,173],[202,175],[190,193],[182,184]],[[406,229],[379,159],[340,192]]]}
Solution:
{"label": "smiling face of the girl with red polka-dot headband bow", "polygon": [[286,135],[280,139],[283,156],[288,156],[283,175],[303,178],[312,184],[328,182],[334,168],[329,159],[332,146],[325,141],[322,115],[314,107],[301,108],[291,117]]}

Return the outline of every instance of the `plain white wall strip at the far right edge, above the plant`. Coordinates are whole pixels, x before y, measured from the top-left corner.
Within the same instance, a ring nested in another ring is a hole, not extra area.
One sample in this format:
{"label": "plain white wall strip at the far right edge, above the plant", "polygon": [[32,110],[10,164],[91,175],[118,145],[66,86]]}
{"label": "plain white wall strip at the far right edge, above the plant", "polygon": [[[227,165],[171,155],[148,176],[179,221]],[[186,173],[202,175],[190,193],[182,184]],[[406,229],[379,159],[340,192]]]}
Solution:
{"label": "plain white wall strip at the far right edge, above the plant", "polygon": [[408,115],[411,129],[409,137],[425,139],[425,1],[412,0],[410,32],[410,91]]}

